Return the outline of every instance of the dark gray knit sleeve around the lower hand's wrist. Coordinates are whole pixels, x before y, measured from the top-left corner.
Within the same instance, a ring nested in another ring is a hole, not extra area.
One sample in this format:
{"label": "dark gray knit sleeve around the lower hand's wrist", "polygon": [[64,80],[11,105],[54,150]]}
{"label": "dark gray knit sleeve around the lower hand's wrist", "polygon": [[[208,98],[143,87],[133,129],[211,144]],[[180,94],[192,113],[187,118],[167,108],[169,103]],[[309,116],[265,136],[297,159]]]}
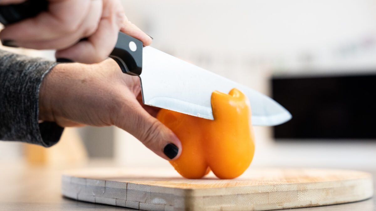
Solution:
{"label": "dark gray knit sleeve around the lower hand's wrist", "polygon": [[55,62],[0,50],[0,140],[49,147],[60,139],[62,127],[38,123],[39,86]]}

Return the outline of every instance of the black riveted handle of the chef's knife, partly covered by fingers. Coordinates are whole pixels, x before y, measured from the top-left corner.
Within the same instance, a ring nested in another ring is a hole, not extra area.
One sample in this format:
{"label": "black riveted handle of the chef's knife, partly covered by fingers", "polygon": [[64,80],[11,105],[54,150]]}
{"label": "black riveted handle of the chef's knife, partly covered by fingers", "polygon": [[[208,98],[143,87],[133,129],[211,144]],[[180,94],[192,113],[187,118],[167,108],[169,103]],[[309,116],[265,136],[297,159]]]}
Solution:
{"label": "black riveted handle of the chef's knife, partly covered by fingers", "polygon": [[[26,18],[35,17],[40,12],[46,11],[47,8],[48,2],[46,0],[27,0],[18,5],[0,6],[0,22],[6,26]],[[142,49],[143,43],[141,41],[119,32],[115,48],[109,57],[118,63],[124,73],[140,75],[142,72]],[[68,60],[64,60],[64,62],[68,62]]]}

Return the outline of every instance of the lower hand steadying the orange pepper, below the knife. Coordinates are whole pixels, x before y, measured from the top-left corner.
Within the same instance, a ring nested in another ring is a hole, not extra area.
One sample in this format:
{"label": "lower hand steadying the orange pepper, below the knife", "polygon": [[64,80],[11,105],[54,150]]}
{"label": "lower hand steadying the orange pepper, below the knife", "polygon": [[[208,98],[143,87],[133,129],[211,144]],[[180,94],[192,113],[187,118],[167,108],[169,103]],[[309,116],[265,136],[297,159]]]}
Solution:
{"label": "lower hand steadying the orange pepper, below the knife", "polygon": [[42,81],[39,119],[62,127],[115,125],[166,160],[171,156],[164,149],[173,143],[179,149],[175,160],[182,151],[179,139],[155,118],[159,108],[142,103],[140,91],[139,78],[121,72],[112,59],[93,65],[61,63]]}

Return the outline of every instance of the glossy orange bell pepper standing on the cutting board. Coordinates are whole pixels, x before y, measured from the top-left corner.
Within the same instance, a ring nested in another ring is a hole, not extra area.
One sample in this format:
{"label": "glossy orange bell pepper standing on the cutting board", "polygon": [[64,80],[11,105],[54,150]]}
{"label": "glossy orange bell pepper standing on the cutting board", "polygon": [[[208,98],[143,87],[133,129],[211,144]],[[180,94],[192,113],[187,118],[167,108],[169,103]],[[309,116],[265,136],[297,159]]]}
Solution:
{"label": "glossy orange bell pepper standing on the cutting board", "polygon": [[251,111],[238,89],[211,96],[214,121],[161,109],[159,121],[182,143],[179,158],[170,163],[185,178],[198,179],[213,171],[221,179],[240,176],[255,152]]}

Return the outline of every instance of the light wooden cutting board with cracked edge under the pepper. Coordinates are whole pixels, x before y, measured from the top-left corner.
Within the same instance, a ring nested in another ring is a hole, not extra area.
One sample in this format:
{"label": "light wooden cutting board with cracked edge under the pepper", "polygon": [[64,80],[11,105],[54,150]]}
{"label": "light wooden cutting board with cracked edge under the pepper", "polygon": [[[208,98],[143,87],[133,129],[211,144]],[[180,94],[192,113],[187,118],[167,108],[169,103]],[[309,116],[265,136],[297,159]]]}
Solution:
{"label": "light wooden cutting board with cracked edge under the pepper", "polygon": [[236,179],[184,179],[173,170],[80,169],[62,194],[143,210],[270,210],[355,202],[373,196],[370,173],[334,169],[249,169]]}

